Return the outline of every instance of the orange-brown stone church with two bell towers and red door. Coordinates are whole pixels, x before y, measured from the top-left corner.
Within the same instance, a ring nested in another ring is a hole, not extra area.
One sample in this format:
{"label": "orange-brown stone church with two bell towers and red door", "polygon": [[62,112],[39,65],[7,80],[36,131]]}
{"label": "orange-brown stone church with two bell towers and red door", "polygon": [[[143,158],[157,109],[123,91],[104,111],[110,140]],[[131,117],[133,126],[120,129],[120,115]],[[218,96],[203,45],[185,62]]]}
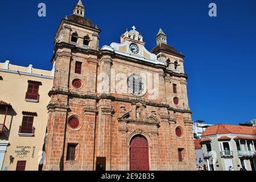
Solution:
{"label": "orange-brown stone church with two bell towers and red door", "polygon": [[79,1],[55,35],[44,170],[195,170],[184,55],[133,26],[98,47]]}

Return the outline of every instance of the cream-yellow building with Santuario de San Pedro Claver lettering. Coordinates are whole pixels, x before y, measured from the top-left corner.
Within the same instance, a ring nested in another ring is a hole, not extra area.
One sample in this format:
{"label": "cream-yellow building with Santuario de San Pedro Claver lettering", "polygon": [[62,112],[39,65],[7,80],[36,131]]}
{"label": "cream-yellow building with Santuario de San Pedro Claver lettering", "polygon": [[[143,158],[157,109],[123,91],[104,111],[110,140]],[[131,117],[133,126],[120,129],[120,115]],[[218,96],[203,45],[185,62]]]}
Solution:
{"label": "cream-yellow building with Santuario de San Pedro Claver lettering", "polygon": [[38,171],[53,73],[0,63],[0,170]]}

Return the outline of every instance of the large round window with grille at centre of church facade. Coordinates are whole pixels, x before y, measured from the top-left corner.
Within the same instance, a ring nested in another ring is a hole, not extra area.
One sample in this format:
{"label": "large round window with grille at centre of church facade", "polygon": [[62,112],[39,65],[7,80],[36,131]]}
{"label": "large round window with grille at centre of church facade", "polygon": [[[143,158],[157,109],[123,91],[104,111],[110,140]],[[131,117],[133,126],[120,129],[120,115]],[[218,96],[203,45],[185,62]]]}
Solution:
{"label": "large round window with grille at centre of church facade", "polygon": [[130,93],[132,93],[134,96],[143,96],[146,94],[146,85],[144,84],[141,76],[137,74],[129,76],[127,84]]}

